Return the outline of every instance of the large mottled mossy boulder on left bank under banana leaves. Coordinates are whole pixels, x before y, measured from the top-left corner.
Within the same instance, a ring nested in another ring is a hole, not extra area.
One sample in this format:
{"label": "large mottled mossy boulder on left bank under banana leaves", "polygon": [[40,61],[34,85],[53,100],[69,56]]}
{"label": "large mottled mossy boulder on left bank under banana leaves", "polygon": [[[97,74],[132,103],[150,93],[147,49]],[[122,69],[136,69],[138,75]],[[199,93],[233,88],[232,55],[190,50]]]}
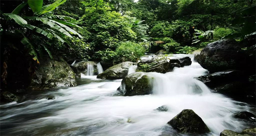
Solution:
{"label": "large mottled mossy boulder on left bank under banana leaves", "polygon": [[35,71],[29,89],[48,89],[76,86],[75,73],[70,65],[60,57],[44,58]]}

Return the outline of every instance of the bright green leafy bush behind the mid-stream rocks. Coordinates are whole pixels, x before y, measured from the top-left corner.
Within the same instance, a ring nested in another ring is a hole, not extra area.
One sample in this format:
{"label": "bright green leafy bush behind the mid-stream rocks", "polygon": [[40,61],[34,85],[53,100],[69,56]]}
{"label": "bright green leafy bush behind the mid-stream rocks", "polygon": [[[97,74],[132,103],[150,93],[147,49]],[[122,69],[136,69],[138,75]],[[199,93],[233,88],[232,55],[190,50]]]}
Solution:
{"label": "bright green leafy bush behind the mid-stream rocks", "polygon": [[116,62],[136,62],[145,53],[145,48],[137,43],[127,41],[120,43],[116,49]]}

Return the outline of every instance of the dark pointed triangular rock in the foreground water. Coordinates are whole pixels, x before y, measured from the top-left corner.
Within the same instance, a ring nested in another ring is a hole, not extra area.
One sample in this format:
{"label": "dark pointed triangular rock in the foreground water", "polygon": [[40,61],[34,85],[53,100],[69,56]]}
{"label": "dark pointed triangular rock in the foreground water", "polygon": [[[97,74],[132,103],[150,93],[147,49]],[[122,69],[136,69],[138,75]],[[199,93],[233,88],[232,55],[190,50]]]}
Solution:
{"label": "dark pointed triangular rock in the foreground water", "polygon": [[183,109],[168,124],[181,133],[204,134],[210,132],[203,120],[191,109]]}

